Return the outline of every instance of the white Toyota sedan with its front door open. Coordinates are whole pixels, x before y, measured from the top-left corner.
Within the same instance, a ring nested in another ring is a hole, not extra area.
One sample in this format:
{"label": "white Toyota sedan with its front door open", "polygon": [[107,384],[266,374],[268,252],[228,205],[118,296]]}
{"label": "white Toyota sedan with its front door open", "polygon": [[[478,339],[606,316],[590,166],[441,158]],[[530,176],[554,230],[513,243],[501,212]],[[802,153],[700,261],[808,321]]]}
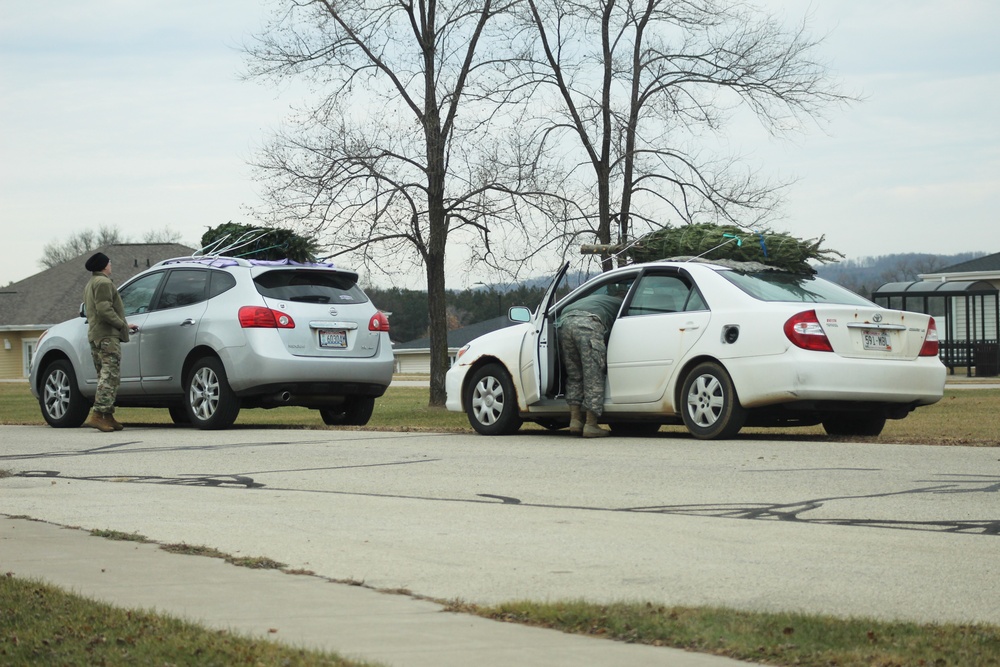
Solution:
{"label": "white Toyota sedan with its front door open", "polygon": [[601,421],[615,433],[684,424],[697,438],[743,426],[823,424],[878,435],[941,399],[946,370],[934,318],[887,310],[815,276],[762,265],[650,262],[603,273],[561,299],[564,266],[519,324],[462,348],[446,377],[449,410],[484,435],[524,421],[569,422],[555,320],[577,299],[626,290],[607,340]]}

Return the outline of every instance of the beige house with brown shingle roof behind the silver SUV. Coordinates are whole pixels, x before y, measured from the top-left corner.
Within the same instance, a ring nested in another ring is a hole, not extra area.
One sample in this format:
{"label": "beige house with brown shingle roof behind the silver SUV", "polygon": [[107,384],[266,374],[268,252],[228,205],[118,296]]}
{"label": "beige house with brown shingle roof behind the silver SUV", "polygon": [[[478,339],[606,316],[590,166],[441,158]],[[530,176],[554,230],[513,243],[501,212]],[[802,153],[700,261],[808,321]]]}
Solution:
{"label": "beige house with brown shingle roof behind the silver SUV", "polygon": [[91,275],[83,265],[98,251],[111,258],[111,279],[121,285],[157,262],[191,255],[194,248],[179,243],[106,245],[0,287],[0,379],[28,377],[31,357],[42,332],[80,315],[83,288]]}

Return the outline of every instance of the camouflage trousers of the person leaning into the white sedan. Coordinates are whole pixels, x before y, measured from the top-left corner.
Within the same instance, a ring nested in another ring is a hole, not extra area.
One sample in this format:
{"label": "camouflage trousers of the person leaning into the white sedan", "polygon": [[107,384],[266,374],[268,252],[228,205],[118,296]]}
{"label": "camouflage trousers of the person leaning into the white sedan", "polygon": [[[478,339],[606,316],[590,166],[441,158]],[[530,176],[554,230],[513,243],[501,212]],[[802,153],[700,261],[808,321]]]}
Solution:
{"label": "camouflage trousers of the person leaning into the white sedan", "polygon": [[566,366],[566,403],[600,417],[608,363],[604,325],[593,315],[574,313],[560,319],[558,329],[559,350]]}

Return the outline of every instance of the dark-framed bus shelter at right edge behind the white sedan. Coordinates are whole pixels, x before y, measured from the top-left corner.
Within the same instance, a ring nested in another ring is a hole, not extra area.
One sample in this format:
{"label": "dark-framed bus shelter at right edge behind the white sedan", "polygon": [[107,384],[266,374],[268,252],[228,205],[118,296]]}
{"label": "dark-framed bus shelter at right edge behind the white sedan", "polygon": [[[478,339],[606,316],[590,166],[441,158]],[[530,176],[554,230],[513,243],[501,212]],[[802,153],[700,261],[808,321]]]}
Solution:
{"label": "dark-framed bus shelter at right edge behind the white sedan", "polygon": [[937,323],[941,361],[952,373],[1000,375],[1000,290],[984,280],[886,283],[872,300],[894,310],[927,313]]}

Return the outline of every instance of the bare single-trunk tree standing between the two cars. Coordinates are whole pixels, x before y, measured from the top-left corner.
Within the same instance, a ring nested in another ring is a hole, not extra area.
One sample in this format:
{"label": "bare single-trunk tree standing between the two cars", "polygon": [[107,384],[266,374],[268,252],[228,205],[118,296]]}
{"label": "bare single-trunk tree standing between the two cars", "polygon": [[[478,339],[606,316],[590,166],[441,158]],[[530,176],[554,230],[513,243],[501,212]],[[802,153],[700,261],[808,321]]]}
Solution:
{"label": "bare single-trunk tree standing between the two cars", "polygon": [[494,230],[528,224],[519,210],[538,193],[503,104],[524,92],[498,76],[493,48],[507,41],[490,34],[516,1],[289,1],[247,47],[250,76],[322,90],[255,165],[264,216],[374,273],[423,268],[431,405],[445,401],[449,241],[489,255]]}

